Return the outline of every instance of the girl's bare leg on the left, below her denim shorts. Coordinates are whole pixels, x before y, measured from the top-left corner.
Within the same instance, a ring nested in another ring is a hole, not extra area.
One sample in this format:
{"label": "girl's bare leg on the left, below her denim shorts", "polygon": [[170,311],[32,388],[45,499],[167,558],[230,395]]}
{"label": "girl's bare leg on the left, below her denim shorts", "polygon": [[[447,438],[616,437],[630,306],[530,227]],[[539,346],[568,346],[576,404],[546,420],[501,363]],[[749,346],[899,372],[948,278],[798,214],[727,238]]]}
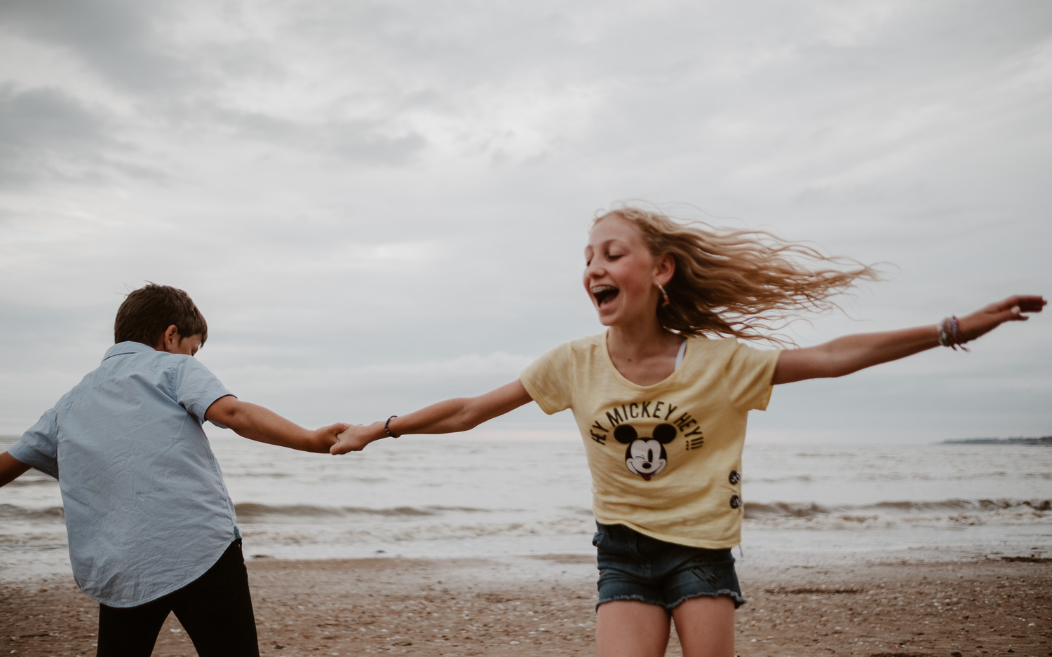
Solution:
{"label": "girl's bare leg on the left, below her denim shorts", "polygon": [[656,604],[604,602],[595,619],[595,653],[599,657],[662,657],[668,631],[668,612]]}

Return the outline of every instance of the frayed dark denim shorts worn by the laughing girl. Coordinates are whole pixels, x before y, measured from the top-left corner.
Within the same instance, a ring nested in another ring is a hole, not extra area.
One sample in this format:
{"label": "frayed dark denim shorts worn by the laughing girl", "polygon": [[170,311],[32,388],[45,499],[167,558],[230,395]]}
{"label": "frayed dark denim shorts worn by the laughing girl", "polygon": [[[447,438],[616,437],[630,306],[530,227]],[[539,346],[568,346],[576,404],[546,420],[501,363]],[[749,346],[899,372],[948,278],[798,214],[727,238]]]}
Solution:
{"label": "frayed dark denim shorts worn by the laughing girl", "polygon": [[671,611],[684,600],[726,595],[745,604],[730,549],[707,550],[658,540],[624,525],[595,523],[599,603],[639,600]]}

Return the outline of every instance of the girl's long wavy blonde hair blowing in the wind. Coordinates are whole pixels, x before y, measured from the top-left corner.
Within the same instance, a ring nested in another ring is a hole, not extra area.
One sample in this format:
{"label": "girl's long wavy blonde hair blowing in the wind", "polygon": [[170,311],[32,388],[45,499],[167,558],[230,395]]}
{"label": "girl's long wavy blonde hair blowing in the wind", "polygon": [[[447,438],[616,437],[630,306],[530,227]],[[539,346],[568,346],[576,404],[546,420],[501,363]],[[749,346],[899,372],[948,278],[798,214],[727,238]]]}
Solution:
{"label": "girl's long wavy blonde hair blowing in the wind", "polygon": [[834,258],[766,230],[683,224],[626,205],[595,220],[621,218],[635,226],[654,258],[668,253],[675,272],[665,286],[669,304],[658,321],[685,335],[723,335],[791,345],[777,333],[802,313],[838,310],[832,296],[879,272],[858,261]]}

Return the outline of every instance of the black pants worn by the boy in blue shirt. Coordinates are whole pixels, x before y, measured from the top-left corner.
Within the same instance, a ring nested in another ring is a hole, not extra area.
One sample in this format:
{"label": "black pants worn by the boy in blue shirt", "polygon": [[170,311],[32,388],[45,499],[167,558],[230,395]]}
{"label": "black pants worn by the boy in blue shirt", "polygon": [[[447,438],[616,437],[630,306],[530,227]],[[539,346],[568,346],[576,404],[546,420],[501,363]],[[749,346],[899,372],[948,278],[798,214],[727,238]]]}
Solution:
{"label": "black pants worn by the boy in blue shirt", "polygon": [[148,657],[174,612],[201,657],[259,657],[248,572],[235,540],[216,564],[179,591],[118,609],[99,605],[98,657]]}

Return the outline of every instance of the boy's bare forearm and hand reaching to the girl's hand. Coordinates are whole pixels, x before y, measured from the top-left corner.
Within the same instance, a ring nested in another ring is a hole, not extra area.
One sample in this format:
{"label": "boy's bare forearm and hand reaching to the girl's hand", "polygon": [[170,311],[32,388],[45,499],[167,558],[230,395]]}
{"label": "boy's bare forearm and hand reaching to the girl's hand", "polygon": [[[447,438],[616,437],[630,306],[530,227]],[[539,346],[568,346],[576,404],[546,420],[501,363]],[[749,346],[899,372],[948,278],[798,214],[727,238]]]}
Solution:
{"label": "boy's bare forearm and hand reaching to the girl's hand", "polygon": [[228,394],[211,403],[204,418],[234,430],[240,436],[304,452],[325,453],[348,425],[338,423],[321,429],[304,429],[270,409],[242,402]]}

